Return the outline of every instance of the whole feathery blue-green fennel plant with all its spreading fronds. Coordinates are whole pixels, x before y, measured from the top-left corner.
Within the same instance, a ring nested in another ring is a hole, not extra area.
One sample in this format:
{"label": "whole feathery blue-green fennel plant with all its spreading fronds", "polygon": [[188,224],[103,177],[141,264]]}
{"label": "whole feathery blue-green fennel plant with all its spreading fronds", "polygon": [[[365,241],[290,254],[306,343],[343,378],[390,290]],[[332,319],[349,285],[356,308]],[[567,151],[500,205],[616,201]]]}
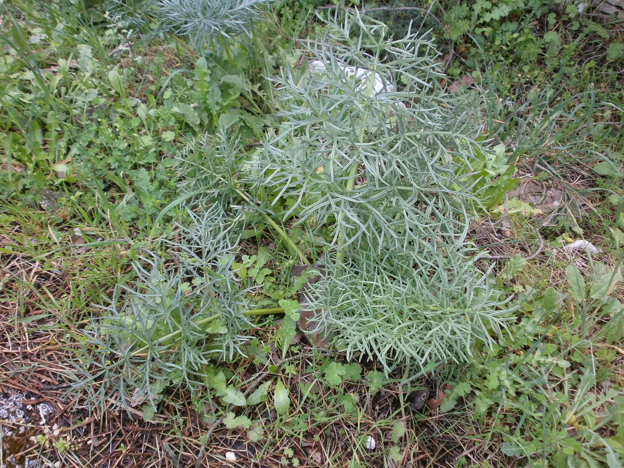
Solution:
{"label": "whole feathery blue-green fennel plant with all its spreading fronds", "polygon": [[213,135],[180,152],[181,196],[165,211],[205,214],[137,261],[140,284],[120,288],[125,303],[113,298],[94,324],[99,351],[84,362],[97,361],[87,383],[109,383],[100,396],[127,404],[174,383],[200,388],[211,362],[242,352],[250,314],[283,311],[253,310],[236,273],[254,223],[283,240],[291,264],[315,264],[305,310],[349,359],[386,371],[463,361],[504,326],[509,310],[466,241],[479,205],[466,168],[485,152],[478,102],[436,85],[427,39],[392,39],[358,11],[323,31],[299,42],[310,67],[267,77],[281,111],[260,147]]}

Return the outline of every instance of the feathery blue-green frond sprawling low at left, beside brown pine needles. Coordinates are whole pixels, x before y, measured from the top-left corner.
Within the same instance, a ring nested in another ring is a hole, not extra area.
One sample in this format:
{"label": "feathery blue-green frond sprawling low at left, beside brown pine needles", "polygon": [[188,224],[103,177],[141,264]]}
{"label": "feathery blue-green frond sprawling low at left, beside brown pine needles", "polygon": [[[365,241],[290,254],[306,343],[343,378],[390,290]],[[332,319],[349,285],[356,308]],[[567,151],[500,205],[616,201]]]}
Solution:
{"label": "feathery blue-green frond sprawling low at left, beside brown pine needles", "polygon": [[[146,252],[135,261],[134,288],[117,288],[92,324],[94,332],[85,332],[97,347],[88,353],[92,368],[77,365],[76,375],[80,388],[102,401],[114,397],[134,406],[137,395],[152,400],[181,383],[193,392],[203,384],[206,366],[243,353],[240,333],[250,322],[242,311],[250,291],[238,285],[232,262],[235,228],[245,216],[231,217],[215,203],[188,218],[175,241],[159,246],[167,259]],[[100,380],[107,384],[90,386]]]}

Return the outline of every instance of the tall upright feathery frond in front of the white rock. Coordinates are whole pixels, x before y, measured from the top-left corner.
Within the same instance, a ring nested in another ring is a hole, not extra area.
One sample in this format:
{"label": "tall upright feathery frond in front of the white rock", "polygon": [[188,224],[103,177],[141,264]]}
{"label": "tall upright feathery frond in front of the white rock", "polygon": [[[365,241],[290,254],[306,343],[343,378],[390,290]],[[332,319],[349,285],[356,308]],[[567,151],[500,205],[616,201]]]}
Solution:
{"label": "tall upright feathery frond in front of the white rock", "polygon": [[323,71],[273,78],[283,122],[252,162],[254,189],[292,200],[283,216],[329,229],[330,245],[407,248],[433,233],[452,242],[476,203],[459,167],[480,148],[478,107],[435,84],[434,44],[393,40],[355,12],[303,47]]}

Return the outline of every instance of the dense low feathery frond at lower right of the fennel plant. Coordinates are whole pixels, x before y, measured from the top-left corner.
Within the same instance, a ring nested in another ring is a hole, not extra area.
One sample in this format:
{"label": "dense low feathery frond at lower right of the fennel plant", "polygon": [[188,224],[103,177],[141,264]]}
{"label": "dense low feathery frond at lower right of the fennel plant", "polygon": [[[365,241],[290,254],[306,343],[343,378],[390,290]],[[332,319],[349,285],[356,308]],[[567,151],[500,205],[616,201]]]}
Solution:
{"label": "dense low feathery frond at lower right of the fennel plant", "polygon": [[465,362],[475,340],[495,343],[511,319],[505,301],[478,270],[470,249],[442,240],[381,254],[353,251],[321,266],[306,310],[316,311],[314,331],[333,336],[346,356],[368,356],[386,371],[410,363]]}

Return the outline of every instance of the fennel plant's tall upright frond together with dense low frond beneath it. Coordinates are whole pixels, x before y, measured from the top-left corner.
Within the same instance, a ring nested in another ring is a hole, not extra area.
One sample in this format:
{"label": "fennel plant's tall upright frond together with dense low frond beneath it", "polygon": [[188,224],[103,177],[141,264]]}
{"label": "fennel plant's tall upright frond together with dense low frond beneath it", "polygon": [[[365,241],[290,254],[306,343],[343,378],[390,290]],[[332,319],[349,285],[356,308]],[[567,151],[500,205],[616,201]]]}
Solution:
{"label": "fennel plant's tall upright frond together with dense low frond beneath it", "polygon": [[466,242],[477,107],[436,89],[431,42],[393,40],[357,12],[304,44],[313,68],[274,78],[284,120],[248,182],[267,205],[289,200],[281,222],[328,233],[307,292],[315,333],[386,371],[466,359],[506,314]]}

